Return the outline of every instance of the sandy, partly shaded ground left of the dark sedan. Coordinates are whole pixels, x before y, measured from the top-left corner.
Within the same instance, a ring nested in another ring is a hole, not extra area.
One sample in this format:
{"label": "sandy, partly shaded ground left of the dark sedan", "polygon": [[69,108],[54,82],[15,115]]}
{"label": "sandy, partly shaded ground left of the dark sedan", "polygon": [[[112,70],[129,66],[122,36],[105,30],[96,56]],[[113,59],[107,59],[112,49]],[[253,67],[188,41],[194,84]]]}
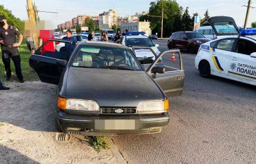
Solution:
{"label": "sandy, partly shaded ground left of the dark sedan", "polygon": [[126,163],[112,140],[97,152],[85,136],[57,141],[56,85],[6,83],[0,92],[0,163]]}

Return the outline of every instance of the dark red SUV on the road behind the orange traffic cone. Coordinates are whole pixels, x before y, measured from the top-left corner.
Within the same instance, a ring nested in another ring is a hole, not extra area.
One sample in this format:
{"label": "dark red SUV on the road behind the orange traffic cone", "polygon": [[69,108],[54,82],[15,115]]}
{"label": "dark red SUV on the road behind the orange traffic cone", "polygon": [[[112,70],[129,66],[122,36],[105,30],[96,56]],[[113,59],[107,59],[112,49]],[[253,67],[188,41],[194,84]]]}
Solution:
{"label": "dark red SUV on the road behind the orange traffic cone", "polygon": [[210,41],[202,34],[192,31],[174,32],[167,42],[169,49],[187,50],[188,53],[196,53],[201,44]]}

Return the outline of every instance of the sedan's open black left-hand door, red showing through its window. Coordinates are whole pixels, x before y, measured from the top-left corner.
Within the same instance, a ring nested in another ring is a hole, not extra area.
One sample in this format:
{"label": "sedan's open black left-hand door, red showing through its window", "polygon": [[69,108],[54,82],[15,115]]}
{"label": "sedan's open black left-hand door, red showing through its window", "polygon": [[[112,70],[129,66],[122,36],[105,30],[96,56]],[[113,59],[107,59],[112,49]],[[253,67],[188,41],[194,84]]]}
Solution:
{"label": "sedan's open black left-hand door, red showing through its window", "polygon": [[[61,40],[48,40],[34,55],[30,57],[30,67],[32,67],[39,76],[40,81],[49,84],[59,84],[60,76],[67,63],[67,53],[69,49],[64,52],[55,50],[55,44],[59,42],[65,42],[65,44],[71,44],[71,42]],[[68,46],[70,48],[70,45]]]}

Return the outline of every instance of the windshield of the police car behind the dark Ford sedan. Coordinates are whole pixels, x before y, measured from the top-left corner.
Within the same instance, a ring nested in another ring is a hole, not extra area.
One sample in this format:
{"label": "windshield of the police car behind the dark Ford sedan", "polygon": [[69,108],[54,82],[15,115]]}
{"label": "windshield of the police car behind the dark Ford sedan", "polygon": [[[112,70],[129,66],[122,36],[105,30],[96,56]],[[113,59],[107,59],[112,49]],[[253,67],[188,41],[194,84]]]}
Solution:
{"label": "windshield of the police car behind the dark Ford sedan", "polygon": [[127,38],[125,45],[132,46],[141,46],[141,47],[152,47],[155,44],[149,38]]}

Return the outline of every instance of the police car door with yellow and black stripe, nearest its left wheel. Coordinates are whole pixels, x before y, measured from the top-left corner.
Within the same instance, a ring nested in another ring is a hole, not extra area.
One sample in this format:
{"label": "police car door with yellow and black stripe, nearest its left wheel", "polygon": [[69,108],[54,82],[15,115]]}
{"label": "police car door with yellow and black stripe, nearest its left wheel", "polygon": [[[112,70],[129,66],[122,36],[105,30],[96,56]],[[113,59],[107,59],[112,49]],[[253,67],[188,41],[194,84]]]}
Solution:
{"label": "police car door with yellow and black stripe, nearest its left wheel", "polygon": [[236,38],[218,40],[210,49],[210,66],[213,74],[228,76],[229,60]]}

